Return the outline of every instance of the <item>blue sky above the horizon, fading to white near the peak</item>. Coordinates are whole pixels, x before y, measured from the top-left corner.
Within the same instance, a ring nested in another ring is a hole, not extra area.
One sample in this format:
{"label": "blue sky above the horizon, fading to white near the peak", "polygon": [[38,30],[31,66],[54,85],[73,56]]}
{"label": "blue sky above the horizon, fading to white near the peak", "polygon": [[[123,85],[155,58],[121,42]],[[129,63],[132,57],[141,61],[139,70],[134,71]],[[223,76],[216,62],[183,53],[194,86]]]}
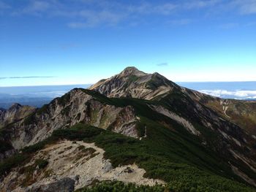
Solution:
{"label": "blue sky above the horizon, fading to white near the peak", "polygon": [[0,0],[0,86],[256,80],[256,0]]}

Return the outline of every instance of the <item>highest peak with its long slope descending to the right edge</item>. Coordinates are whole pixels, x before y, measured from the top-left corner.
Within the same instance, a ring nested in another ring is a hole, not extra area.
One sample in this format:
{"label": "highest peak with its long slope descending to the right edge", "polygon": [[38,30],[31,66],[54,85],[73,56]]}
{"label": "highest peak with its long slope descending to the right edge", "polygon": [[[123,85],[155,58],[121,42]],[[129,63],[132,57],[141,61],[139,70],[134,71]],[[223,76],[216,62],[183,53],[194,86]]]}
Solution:
{"label": "highest peak with its long slope descending to the right edge", "polygon": [[[201,102],[206,107],[213,109],[221,115],[222,118],[230,120],[244,128],[250,134],[256,135],[255,101],[220,99],[218,97],[209,96],[189,88],[180,87],[158,73],[143,73],[143,75],[133,77],[133,82],[130,82],[130,69],[132,69],[133,74],[135,74],[135,72],[140,73],[140,71],[135,67],[127,67],[123,72],[121,72],[121,74],[127,74],[126,76],[116,74],[105,81],[101,80],[97,82],[89,89],[98,91],[99,93],[110,97],[132,97],[147,100],[155,100],[157,99],[157,96],[163,98],[173,90],[181,91],[186,93],[187,96],[192,99]],[[118,80],[118,82],[116,82],[116,80]],[[127,85],[127,83],[129,85]],[[247,112],[246,109],[248,109]],[[251,115],[247,115],[248,111],[251,112]]]}

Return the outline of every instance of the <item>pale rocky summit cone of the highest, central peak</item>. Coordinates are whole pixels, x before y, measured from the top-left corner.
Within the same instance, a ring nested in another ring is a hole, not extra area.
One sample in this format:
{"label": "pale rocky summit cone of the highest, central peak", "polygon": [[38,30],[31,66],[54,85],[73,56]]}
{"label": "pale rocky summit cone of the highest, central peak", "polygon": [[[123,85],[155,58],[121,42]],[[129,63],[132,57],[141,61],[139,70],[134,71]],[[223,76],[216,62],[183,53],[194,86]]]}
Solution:
{"label": "pale rocky summit cone of the highest, central peak", "polygon": [[154,99],[178,87],[158,73],[146,74],[135,67],[127,67],[120,74],[92,85],[91,90],[109,97]]}

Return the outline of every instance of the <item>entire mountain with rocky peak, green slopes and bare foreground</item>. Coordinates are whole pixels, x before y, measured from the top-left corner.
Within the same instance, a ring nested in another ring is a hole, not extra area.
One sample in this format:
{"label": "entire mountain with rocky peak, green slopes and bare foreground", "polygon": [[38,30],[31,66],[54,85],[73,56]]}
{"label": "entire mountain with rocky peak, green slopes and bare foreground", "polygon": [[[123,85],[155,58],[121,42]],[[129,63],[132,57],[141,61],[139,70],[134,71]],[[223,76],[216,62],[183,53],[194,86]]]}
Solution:
{"label": "entire mountain with rocky peak, green slopes and bare foreground", "polygon": [[0,109],[0,191],[256,191],[256,102],[127,67]]}

